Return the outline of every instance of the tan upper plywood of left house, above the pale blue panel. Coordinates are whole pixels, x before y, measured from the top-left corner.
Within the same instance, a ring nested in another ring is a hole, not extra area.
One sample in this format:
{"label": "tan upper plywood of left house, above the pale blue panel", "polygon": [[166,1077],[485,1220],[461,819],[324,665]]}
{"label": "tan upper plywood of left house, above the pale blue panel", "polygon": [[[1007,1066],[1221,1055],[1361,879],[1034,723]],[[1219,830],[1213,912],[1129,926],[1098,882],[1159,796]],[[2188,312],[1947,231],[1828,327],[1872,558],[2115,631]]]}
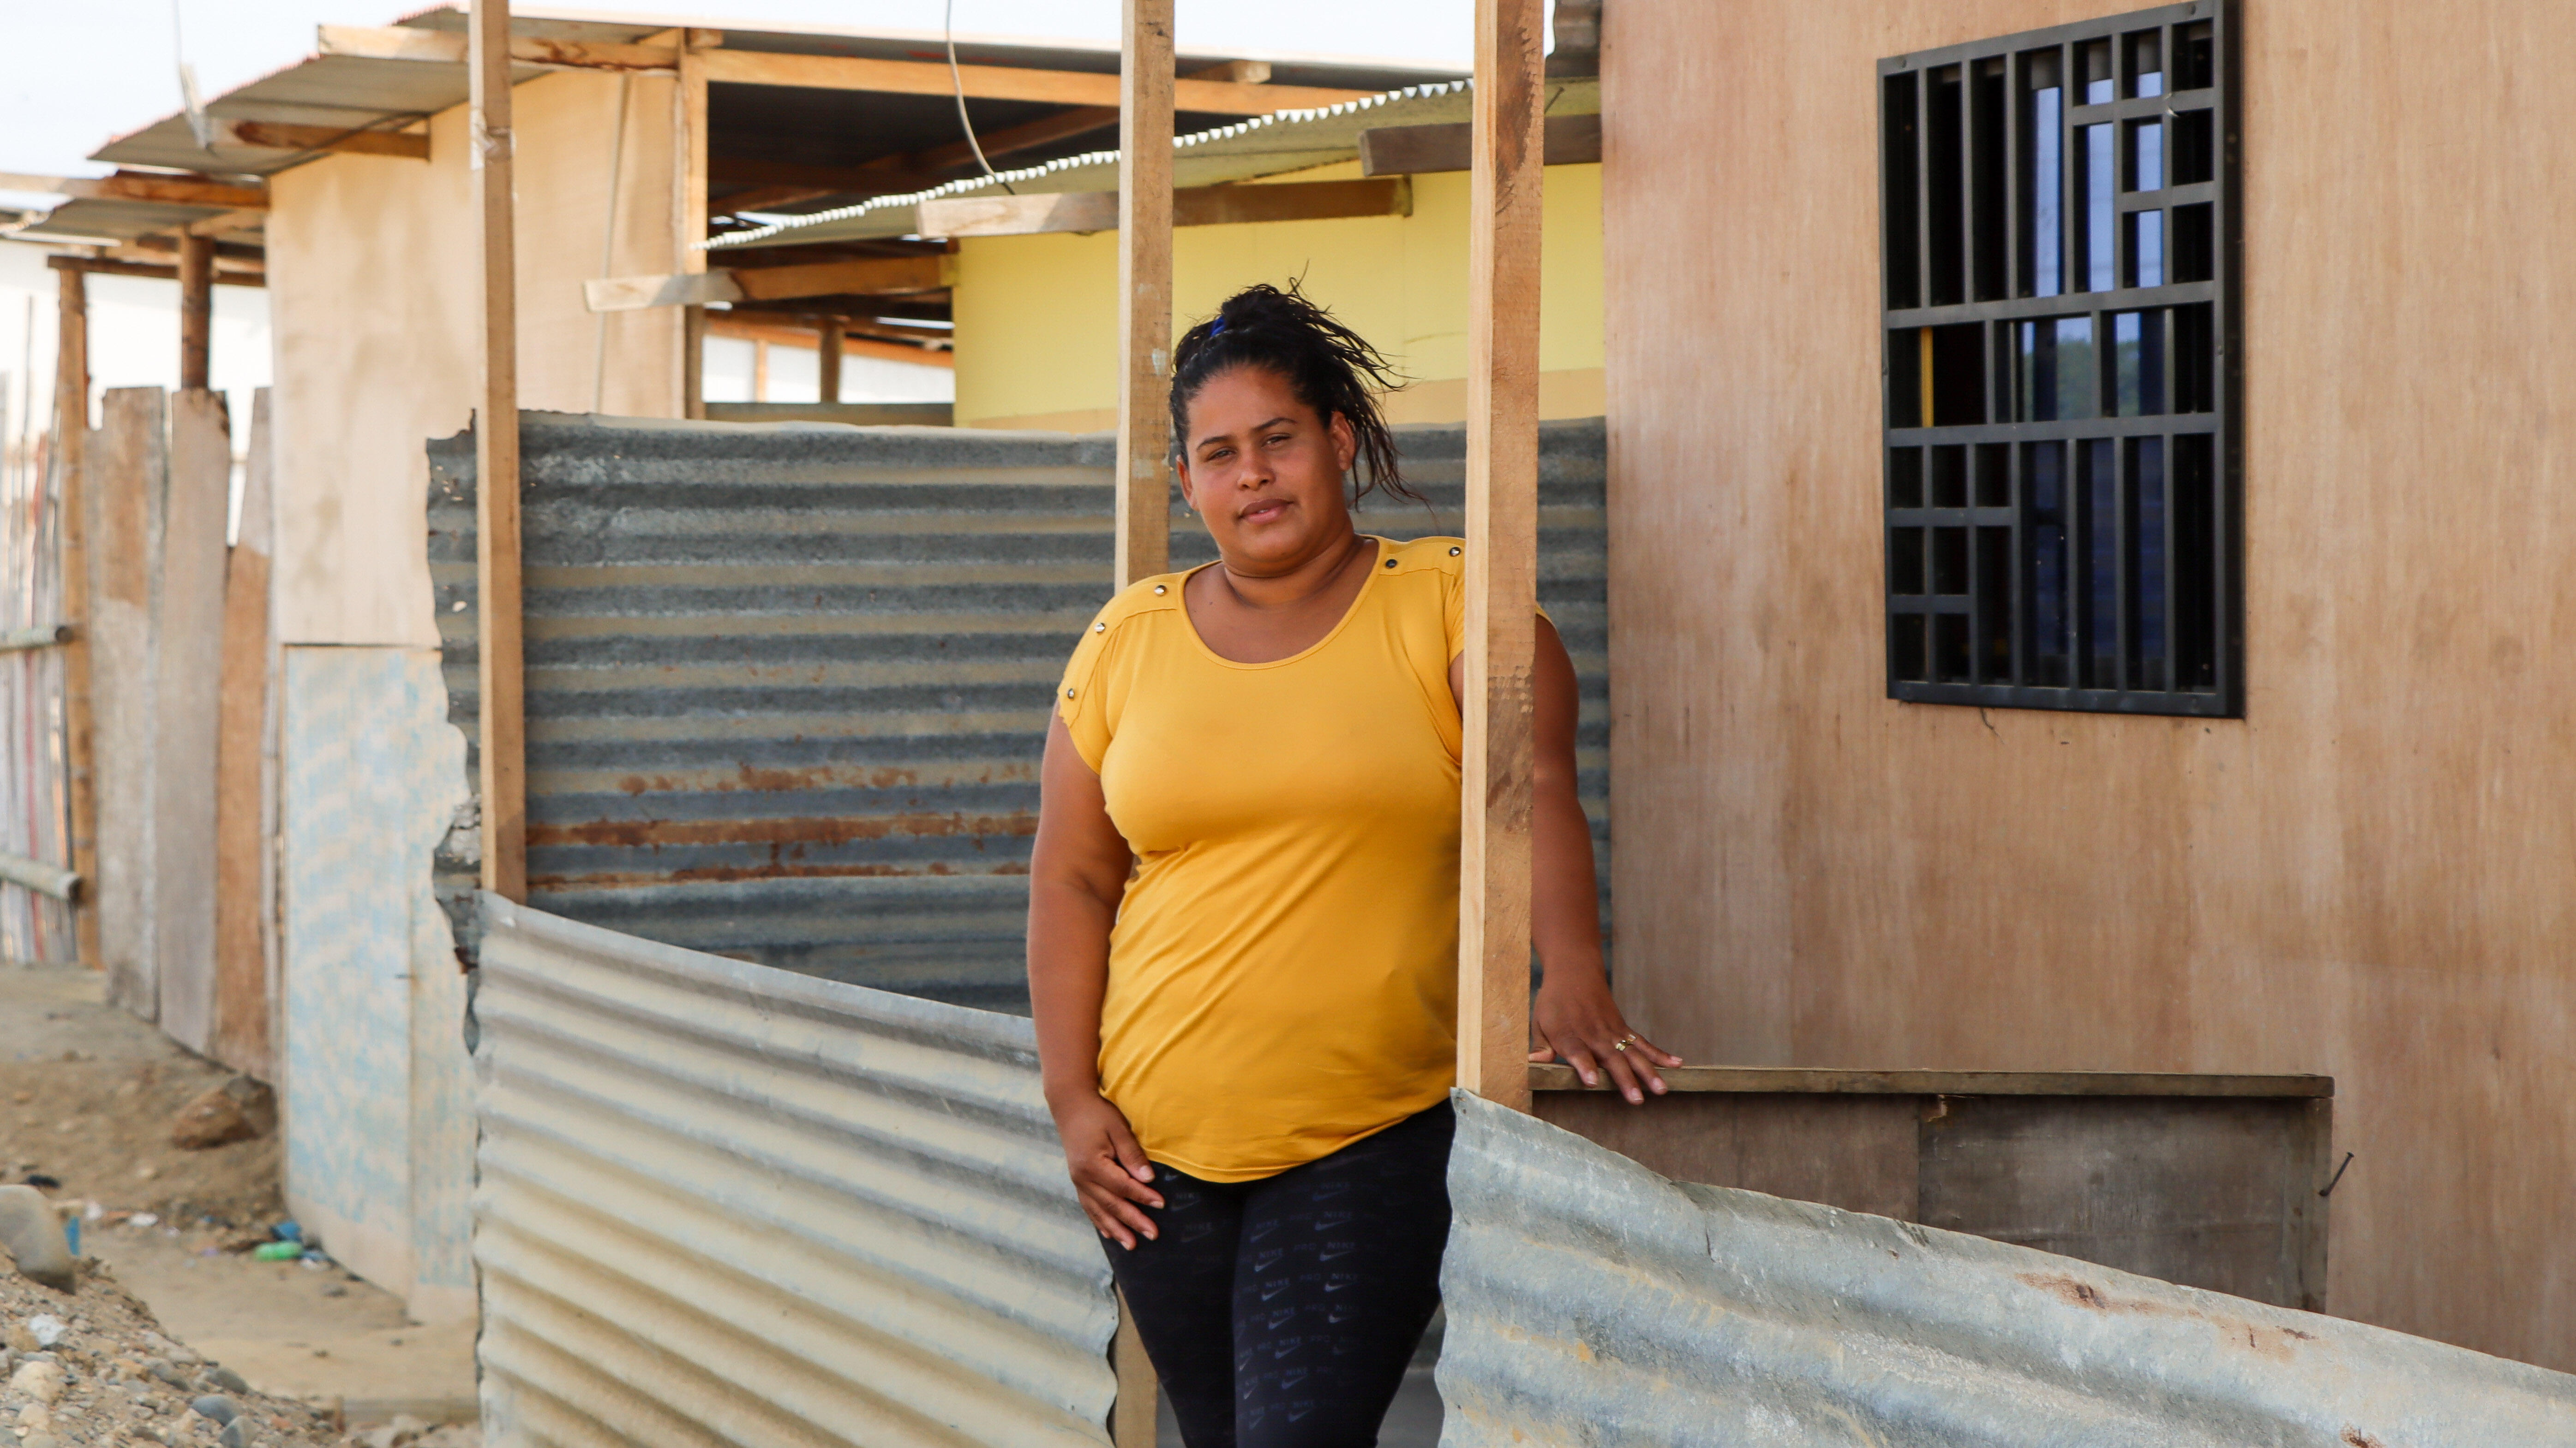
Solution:
{"label": "tan upper plywood of left house, above the pale blue panel", "polygon": [[[608,275],[677,270],[670,77],[559,72],[515,90],[520,406],[680,417],[677,311],[600,321],[618,93],[626,144]],[[270,183],[278,638],[435,646],[422,445],[466,427],[482,339],[466,111],[430,159],[325,157]],[[605,368],[600,360],[605,357]]]}

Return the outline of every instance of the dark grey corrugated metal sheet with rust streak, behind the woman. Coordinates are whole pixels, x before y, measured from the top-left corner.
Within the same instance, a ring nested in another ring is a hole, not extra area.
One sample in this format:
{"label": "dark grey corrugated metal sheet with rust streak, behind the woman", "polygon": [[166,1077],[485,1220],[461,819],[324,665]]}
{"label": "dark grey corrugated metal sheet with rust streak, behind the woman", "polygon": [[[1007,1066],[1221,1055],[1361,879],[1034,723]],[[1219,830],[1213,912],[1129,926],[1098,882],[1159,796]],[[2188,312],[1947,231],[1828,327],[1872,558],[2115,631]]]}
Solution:
{"label": "dark grey corrugated metal sheet with rust streak, behind the woman", "polygon": [[[1458,527],[1466,435],[1401,430]],[[1051,687],[1110,594],[1110,440],[526,414],[528,877],[546,910],[1020,1011]],[[1582,674],[1607,880],[1602,424],[1543,430],[1540,599]],[[1211,558],[1175,512],[1175,566]],[[474,442],[430,445],[451,718],[474,738]],[[443,895],[471,890],[443,862]],[[453,910],[461,918],[461,910]],[[464,923],[464,918],[461,918]]]}

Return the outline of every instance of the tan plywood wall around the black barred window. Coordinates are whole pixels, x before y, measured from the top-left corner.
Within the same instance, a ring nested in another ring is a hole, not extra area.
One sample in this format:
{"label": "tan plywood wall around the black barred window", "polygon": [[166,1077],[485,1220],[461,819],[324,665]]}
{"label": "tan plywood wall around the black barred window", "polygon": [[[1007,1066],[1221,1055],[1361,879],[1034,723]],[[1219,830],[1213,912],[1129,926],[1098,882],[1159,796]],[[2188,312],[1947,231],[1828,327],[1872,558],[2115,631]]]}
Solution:
{"label": "tan plywood wall around the black barred window", "polygon": [[1896,705],[1878,57],[1620,0],[1620,993],[1692,1060],[2331,1072],[2339,1314],[2576,1368],[2576,28],[2244,8],[2246,718]]}

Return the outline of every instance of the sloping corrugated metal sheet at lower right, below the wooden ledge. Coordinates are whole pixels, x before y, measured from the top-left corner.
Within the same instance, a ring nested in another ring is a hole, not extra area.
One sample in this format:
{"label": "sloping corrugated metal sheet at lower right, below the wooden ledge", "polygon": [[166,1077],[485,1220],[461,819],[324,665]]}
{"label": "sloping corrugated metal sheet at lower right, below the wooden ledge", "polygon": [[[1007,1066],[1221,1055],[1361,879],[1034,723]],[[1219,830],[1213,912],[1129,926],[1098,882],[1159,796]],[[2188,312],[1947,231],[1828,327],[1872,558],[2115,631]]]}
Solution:
{"label": "sloping corrugated metal sheet at lower right, below the wooden ledge", "polygon": [[1752,1191],[1458,1098],[1445,1448],[2543,1448],[2576,1376]]}

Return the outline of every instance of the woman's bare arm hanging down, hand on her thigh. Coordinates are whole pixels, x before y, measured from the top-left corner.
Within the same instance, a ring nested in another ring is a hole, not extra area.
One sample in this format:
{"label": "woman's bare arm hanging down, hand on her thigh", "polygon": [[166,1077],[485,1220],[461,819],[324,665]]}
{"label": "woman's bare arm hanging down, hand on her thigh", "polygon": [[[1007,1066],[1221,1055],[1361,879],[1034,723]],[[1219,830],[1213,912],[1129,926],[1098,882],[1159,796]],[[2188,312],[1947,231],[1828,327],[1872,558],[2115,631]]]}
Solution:
{"label": "woman's bare arm hanging down, hand on her thigh", "polygon": [[1133,1247],[1162,1206],[1126,1116],[1100,1096],[1100,998],[1110,982],[1110,923],[1133,856],[1110,823],[1100,774],[1082,761],[1061,715],[1048,718],[1038,779],[1038,841],[1028,862],[1028,1003],[1038,1024],[1046,1109],[1064,1165],[1103,1237]]}

